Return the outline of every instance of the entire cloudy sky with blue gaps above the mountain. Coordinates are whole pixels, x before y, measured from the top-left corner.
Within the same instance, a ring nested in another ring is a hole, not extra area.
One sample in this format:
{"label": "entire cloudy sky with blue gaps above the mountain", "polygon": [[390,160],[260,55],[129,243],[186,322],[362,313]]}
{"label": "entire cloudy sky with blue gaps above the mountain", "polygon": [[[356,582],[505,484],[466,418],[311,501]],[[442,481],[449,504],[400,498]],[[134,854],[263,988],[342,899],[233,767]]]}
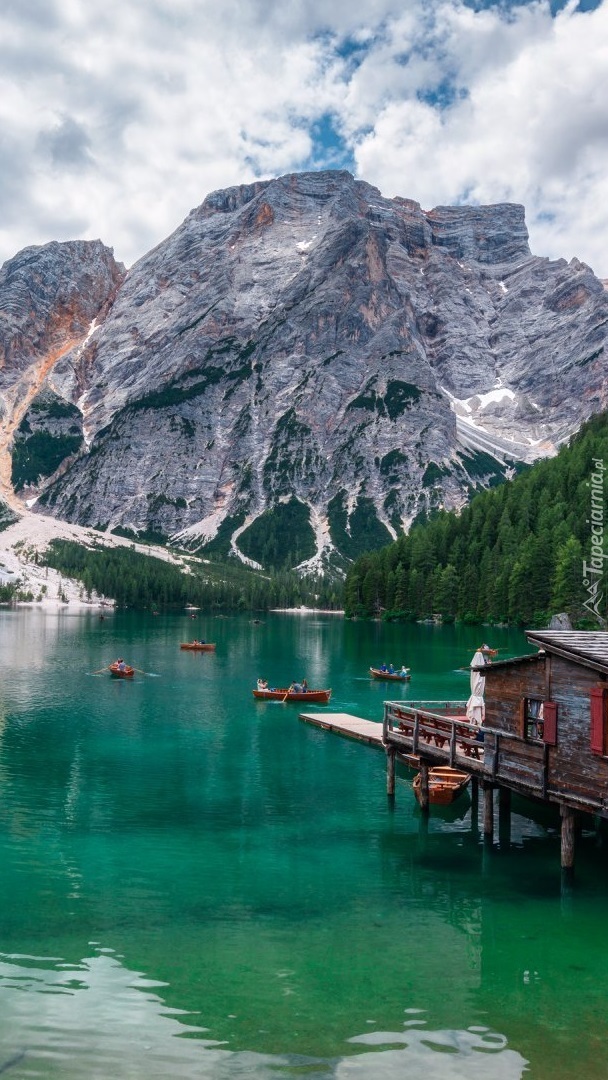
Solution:
{"label": "entire cloudy sky with blue gaps above the mountain", "polygon": [[212,190],[344,167],[430,210],[526,207],[608,278],[608,0],[4,0],[0,261],[131,265]]}

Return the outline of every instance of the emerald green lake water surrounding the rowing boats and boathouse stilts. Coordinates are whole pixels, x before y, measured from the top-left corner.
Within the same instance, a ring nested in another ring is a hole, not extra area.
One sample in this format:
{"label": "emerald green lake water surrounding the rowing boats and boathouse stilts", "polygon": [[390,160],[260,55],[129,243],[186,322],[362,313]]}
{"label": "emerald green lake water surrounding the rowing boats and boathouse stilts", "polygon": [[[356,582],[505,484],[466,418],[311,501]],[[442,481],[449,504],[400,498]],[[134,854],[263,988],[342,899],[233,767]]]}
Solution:
{"label": "emerald green lake water surrounding the rowing boats and boathouse stilts", "polygon": [[[216,653],[180,651],[193,636]],[[605,1080],[606,852],[558,819],[424,820],[382,753],[258,703],[467,698],[522,634],[332,616],[0,612],[0,1070],[15,1078]],[[124,656],[133,683],[93,675]],[[409,685],[367,677],[405,662]],[[498,831],[498,825],[497,825]]]}

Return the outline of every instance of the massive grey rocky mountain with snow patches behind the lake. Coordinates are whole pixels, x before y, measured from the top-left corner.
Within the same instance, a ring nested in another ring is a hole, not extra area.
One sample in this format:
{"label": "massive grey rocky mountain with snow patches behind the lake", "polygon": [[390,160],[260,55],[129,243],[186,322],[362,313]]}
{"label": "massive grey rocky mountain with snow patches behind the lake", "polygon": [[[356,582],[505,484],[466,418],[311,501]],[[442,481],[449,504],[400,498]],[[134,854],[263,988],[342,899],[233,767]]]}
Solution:
{"label": "massive grey rocky mountain with snow patches behind the lake", "polygon": [[127,272],[99,242],[4,265],[0,482],[80,525],[344,565],[605,408],[607,327],[522,206],[425,212],[344,172],[218,191]]}

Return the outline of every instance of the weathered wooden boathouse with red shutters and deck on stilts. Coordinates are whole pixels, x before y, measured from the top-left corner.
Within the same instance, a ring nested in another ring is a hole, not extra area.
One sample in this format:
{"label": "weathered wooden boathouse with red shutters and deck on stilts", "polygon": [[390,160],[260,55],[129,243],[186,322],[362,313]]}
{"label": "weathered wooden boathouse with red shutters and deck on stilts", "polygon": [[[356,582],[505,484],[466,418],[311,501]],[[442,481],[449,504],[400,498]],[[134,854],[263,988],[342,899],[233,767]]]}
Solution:
{"label": "weathered wooden boathouse with red shutters and deck on stilts", "polygon": [[[420,761],[422,806],[429,769],[457,766],[484,793],[484,833],[494,832],[494,791],[553,802],[562,814],[562,866],[571,869],[578,812],[608,818],[608,633],[527,631],[537,651],[485,664],[485,718],[465,702],[386,702],[387,789],[395,757]],[[481,670],[481,669],[478,669]],[[481,741],[483,739],[483,741]]]}

